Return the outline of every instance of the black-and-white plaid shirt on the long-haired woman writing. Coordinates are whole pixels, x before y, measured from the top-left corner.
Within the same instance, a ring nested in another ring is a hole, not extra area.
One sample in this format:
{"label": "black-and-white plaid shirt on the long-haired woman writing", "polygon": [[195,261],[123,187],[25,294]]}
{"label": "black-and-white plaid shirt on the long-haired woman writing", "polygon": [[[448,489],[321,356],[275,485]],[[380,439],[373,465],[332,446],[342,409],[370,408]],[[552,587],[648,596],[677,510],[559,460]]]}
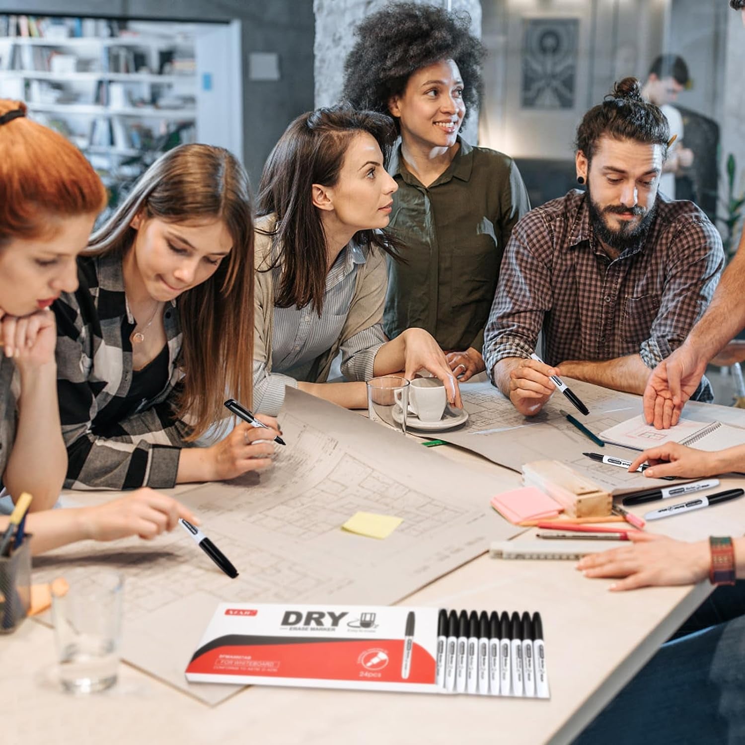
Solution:
{"label": "black-and-white plaid shirt on the long-haired woman writing", "polygon": [[74,293],[63,292],[57,317],[57,396],[67,446],[68,489],[168,489],[176,483],[188,427],[174,416],[181,378],[181,328],[175,302],[163,314],[168,380],[153,399],[121,418],[133,382],[130,335],[135,320],[124,295],[121,256],[78,256]]}

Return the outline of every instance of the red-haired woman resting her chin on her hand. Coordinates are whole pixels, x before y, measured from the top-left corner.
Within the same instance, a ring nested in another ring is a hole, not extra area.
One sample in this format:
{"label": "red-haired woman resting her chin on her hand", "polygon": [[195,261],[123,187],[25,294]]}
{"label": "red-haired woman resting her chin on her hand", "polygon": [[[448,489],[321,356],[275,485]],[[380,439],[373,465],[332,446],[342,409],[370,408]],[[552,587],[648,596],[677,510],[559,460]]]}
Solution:
{"label": "red-haired woman resting her chin on her hand", "polygon": [[[49,305],[77,288],[75,256],[105,204],[80,150],[30,121],[22,102],[0,100],[0,482],[13,501],[33,497],[26,530],[34,554],[82,539],[152,538],[179,517],[194,519],[151,489],[99,507],[48,509],[67,465]],[[7,523],[0,516],[0,533]]]}

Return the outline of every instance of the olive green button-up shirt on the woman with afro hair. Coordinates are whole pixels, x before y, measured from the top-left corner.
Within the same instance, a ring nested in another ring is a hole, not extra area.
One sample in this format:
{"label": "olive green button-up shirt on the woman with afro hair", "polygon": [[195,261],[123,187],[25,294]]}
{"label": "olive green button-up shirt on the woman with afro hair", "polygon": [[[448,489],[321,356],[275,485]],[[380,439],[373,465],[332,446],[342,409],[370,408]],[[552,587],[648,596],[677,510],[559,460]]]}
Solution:
{"label": "olive green button-up shirt on the woman with afro hair", "polygon": [[404,261],[388,262],[384,329],[389,338],[426,329],[446,351],[481,352],[504,247],[530,210],[513,160],[460,137],[447,170],[430,186],[410,173],[399,145],[388,168],[393,194],[390,229]]}

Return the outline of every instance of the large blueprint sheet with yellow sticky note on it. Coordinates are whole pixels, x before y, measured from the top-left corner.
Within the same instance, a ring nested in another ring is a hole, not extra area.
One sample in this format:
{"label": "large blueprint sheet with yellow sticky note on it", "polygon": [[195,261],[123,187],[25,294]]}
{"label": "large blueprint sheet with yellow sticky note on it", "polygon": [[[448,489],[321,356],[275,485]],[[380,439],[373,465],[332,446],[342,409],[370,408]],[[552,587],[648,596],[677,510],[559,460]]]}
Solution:
{"label": "large blueprint sheet with yellow sticky note on it", "polygon": [[[124,574],[127,662],[219,703],[232,686],[184,670],[219,602],[394,603],[521,529],[490,507],[498,478],[469,470],[357,413],[288,388],[285,448],[260,474],[180,492],[238,569],[229,579],[178,528],[153,542],[77,545],[35,559]],[[358,511],[398,516],[385,540],[340,529]]]}

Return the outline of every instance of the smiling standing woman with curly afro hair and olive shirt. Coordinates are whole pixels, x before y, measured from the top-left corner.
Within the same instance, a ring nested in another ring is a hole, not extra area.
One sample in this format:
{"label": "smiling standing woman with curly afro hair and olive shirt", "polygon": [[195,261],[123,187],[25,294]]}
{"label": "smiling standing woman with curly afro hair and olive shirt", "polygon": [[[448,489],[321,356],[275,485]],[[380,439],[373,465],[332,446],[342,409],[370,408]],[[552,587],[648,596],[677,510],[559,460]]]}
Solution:
{"label": "smiling standing woman with curly afro hair and olive shirt", "polygon": [[530,209],[513,160],[459,134],[483,88],[484,48],[469,26],[467,13],[415,3],[367,16],[343,89],[355,108],[392,115],[400,135],[390,232],[405,261],[388,262],[385,332],[427,329],[461,381],[484,370],[502,253]]}

